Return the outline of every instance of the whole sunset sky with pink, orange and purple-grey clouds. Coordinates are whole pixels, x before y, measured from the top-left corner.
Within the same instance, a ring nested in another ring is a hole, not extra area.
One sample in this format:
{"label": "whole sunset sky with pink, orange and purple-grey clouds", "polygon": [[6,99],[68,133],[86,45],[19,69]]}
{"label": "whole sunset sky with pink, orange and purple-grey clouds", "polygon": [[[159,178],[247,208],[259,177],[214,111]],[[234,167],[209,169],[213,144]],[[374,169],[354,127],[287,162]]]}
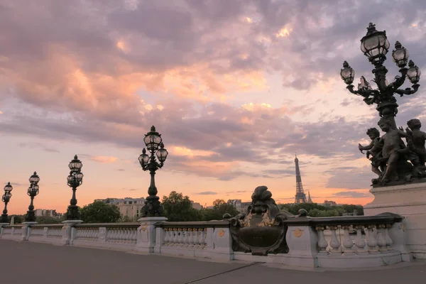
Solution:
{"label": "whole sunset sky with pink, orange and purple-grey clouds", "polygon": [[[355,84],[373,79],[359,49],[370,22],[422,69],[425,19],[421,0],[0,0],[9,214],[26,212],[34,171],[35,208],[65,212],[75,154],[80,206],[146,197],[138,155],[152,125],[169,152],[155,176],[160,197],[175,190],[208,206],[249,201],[266,185],[276,202],[293,202],[297,152],[314,202],[371,202],[375,175],[358,143],[378,114],[339,72],[347,60]],[[398,75],[391,50],[388,82]],[[424,95],[398,97],[398,126],[424,118]]]}

